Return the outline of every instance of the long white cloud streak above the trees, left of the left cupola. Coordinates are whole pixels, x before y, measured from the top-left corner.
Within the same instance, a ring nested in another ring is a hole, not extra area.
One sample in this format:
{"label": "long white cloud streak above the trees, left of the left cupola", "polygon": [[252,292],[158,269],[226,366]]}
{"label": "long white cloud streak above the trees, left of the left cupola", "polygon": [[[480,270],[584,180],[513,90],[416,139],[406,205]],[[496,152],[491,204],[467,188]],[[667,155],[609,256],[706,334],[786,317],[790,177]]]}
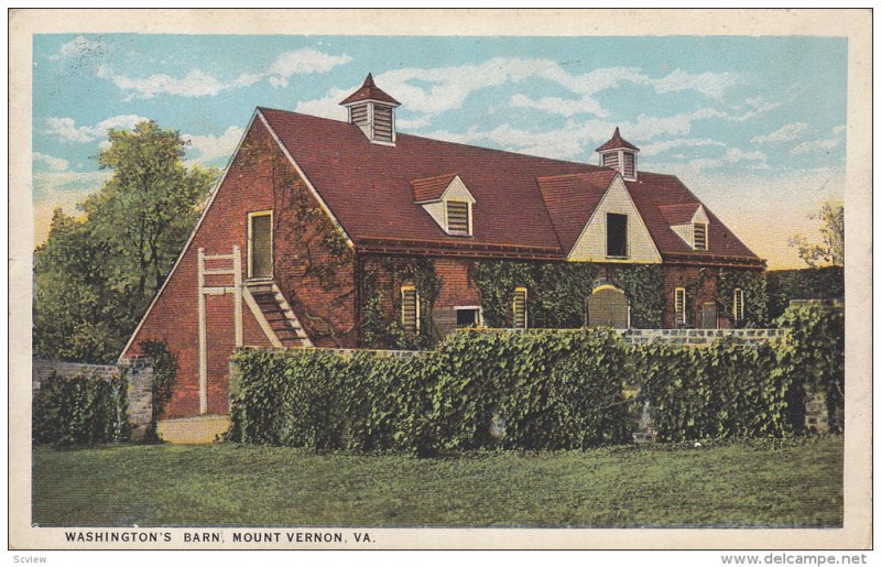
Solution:
{"label": "long white cloud streak above the trees, left of the left cupola", "polygon": [[286,87],[294,75],[327,73],[338,65],[349,63],[348,55],[329,55],[309,47],[280,54],[263,72],[242,73],[231,81],[221,80],[199,69],[193,69],[183,78],[159,74],[148,77],[132,78],[116,74],[101,66],[98,77],[111,80],[129,95],[126,100],[149,99],[157,95],[185,98],[214,97],[221,90],[249,87],[263,79],[269,79],[273,87]]}

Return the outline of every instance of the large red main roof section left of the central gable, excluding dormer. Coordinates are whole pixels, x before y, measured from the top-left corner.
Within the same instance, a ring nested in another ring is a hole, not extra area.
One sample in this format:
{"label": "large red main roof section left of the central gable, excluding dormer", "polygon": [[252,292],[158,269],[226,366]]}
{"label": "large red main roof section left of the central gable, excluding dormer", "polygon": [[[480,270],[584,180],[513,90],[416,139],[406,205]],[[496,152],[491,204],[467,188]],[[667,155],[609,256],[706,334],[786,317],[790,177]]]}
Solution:
{"label": "large red main roof section left of the central gable, excluding dormer", "polygon": [[[347,122],[260,111],[356,246],[360,239],[467,241],[550,248],[562,257],[535,179],[599,168],[403,133],[394,146],[374,144]],[[447,235],[413,203],[412,179],[450,172],[477,201],[471,237]]]}

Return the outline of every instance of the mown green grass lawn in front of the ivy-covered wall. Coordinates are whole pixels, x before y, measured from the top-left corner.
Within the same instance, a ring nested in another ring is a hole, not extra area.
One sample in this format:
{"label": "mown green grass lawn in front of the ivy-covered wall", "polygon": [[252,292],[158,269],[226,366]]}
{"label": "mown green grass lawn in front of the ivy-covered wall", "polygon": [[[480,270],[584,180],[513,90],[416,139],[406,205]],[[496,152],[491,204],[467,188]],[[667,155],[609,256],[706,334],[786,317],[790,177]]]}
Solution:
{"label": "mown green grass lawn in front of the ivy-covered wall", "polygon": [[37,447],[41,526],[840,526],[842,438],[418,460],[233,444]]}

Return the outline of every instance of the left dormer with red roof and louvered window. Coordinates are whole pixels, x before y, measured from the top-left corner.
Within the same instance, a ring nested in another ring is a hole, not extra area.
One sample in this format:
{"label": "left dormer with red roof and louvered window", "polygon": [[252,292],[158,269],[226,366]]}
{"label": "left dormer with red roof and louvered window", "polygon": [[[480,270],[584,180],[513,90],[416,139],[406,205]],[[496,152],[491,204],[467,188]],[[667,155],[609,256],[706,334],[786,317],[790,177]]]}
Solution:
{"label": "left dormer with red roof and louvered window", "polygon": [[477,203],[465,182],[455,173],[410,182],[414,200],[449,236],[474,235],[474,206]]}

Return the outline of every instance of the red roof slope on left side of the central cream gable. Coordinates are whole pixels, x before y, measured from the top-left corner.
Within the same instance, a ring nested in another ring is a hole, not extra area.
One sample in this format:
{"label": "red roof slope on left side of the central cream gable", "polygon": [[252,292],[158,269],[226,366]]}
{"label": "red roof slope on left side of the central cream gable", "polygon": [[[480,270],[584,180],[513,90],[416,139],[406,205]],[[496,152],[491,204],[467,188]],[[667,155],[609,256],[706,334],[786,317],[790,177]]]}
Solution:
{"label": "red roof slope on left side of the central cream gable", "polygon": [[559,243],[567,253],[581,236],[613,178],[614,170],[603,167],[536,179]]}

